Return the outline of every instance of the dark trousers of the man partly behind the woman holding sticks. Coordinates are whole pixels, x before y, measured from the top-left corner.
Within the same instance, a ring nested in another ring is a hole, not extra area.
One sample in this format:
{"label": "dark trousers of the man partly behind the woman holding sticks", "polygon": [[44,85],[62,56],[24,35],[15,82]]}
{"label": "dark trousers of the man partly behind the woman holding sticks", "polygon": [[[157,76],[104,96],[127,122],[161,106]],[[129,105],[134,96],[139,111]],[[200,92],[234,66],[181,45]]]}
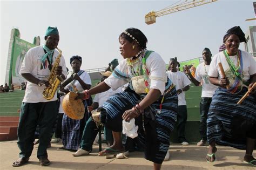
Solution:
{"label": "dark trousers of the man partly behind the woman holding sticks", "polygon": [[199,132],[201,139],[207,141],[206,129],[207,129],[207,114],[212,102],[212,98],[210,97],[202,97],[200,101],[200,125],[199,125]]}

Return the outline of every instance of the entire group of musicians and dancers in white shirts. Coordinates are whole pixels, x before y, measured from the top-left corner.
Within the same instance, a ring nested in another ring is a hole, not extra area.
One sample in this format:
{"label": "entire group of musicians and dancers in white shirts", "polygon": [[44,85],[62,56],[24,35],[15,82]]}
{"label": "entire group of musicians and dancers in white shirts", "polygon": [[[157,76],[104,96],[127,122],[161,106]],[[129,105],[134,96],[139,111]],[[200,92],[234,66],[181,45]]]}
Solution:
{"label": "entire group of musicians and dancers in white shirts", "polygon": [[[49,26],[44,39],[44,45],[26,53],[19,71],[28,84],[18,125],[21,152],[12,166],[29,162],[36,133],[37,158],[41,166],[47,166],[50,160],[46,149],[53,133],[55,142],[63,144],[58,150],[75,151],[72,155],[79,157],[92,152],[93,141],[102,129],[99,127],[103,127],[108,147],[99,156],[126,158],[131,151],[143,151],[145,159],[153,162],[153,168],[161,169],[163,161],[170,157],[174,126],[177,125],[180,144],[189,145],[185,137],[185,91],[190,89],[191,81],[202,86],[201,139],[197,146],[208,142],[206,161],[215,161],[217,144],[245,149],[244,161],[256,166],[252,155],[256,148],[256,64],[249,53],[239,50],[240,43],[245,42],[239,26],[225,33],[219,53],[212,57],[205,47],[204,62],[197,69],[185,66],[184,72],[179,71],[177,58],[170,59],[166,70],[161,56],[147,50],[144,33],[136,28],[126,29],[119,35],[119,51],[124,59],[113,59],[100,73],[102,79],[95,87],[91,87],[89,74],[80,70],[85,58],[72,56],[72,72],[67,76],[66,62],[60,57],[57,75],[72,80],[66,86],[60,85],[50,100],[42,93],[51,86],[48,78],[60,54],[56,49],[58,29]],[[246,94],[247,91],[250,93]],[[70,118],[63,110],[63,98],[69,92],[76,92],[76,100],[83,100],[84,117],[80,120]],[[244,100],[237,104],[241,98]]]}

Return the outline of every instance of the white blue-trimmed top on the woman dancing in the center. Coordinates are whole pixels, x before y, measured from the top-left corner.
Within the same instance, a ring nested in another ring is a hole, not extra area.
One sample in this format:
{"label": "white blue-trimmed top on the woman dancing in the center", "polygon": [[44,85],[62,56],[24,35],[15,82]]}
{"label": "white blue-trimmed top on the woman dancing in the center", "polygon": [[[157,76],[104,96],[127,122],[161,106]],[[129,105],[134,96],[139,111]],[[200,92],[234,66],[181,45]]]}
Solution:
{"label": "white blue-trimmed top on the woman dancing in the center", "polygon": [[[139,62],[134,63],[133,65],[134,70],[137,70],[138,65],[139,65]],[[164,60],[160,57],[158,53],[152,52],[150,56],[147,57],[146,59],[146,66],[151,76],[150,89],[157,89],[161,92],[161,94],[164,94],[165,83],[167,81]],[[126,59],[122,60],[119,63],[115,71],[117,71],[120,75],[129,76],[130,78],[133,77],[128,66],[126,65]],[[121,87],[126,83],[129,83],[130,78],[129,79],[119,78],[111,74],[111,76],[105,79],[104,82],[108,86],[110,86],[112,90],[116,90],[118,89],[118,87]]]}

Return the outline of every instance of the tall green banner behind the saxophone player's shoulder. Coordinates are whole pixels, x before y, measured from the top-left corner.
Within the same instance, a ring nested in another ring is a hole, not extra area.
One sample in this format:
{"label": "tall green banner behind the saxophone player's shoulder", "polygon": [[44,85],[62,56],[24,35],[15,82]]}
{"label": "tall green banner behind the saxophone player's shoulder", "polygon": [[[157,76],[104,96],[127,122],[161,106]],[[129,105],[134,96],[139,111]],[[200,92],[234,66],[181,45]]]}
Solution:
{"label": "tall green banner behind the saxophone player's shoulder", "polygon": [[19,74],[19,69],[21,69],[21,65],[23,59],[25,57],[26,52],[28,52],[31,47],[35,47],[35,44],[31,44],[26,42],[23,39],[15,37],[14,46],[12,49],[12,84],[15,86],[20,86],[22,82],[26,80]]}

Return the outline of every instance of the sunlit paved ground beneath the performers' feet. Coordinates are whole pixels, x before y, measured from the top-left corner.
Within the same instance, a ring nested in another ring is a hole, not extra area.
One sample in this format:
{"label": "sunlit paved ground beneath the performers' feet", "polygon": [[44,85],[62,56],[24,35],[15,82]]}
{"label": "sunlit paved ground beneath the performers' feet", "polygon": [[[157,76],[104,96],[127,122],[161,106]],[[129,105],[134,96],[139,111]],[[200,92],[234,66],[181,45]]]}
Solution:
{"label": "sunlit paved ground beneath the performers' feet", "polygon": [[[38,147],[36,145],[29,164],[22,167],[12,167],[12,162],[18,159],[19,153],[16,142],[0,142],[1,169],[153,169],[152,162],[145,160],[141,152],[130,153],[129,159],[105,159],[105,157],[97,156],[98,146],[94,145],[93,152],[90,155],[73,157],[70,151],[57,151],[57,148],[62,146],[60,143],[52,144],[52,147],[48,149],[50,166],[39,166],[36,158]],[[208,163],[205,160],[206,146],[171,144],[169,151],[171,158],[163,163],[162,169],[256,169],[256,167],[242,162],[244,151],[231,147],[218,147],[217,160],[214,163]]]}

